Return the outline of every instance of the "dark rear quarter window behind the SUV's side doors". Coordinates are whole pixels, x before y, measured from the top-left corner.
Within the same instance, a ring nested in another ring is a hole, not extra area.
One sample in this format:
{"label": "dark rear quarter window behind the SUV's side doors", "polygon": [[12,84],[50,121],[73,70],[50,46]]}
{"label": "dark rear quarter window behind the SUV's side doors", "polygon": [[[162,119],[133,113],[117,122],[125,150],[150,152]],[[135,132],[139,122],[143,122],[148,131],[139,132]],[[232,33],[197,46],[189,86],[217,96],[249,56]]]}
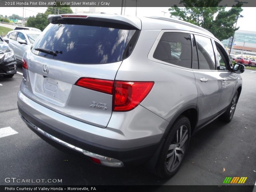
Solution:
{"label": "dark rear quarter window behind the SUV's side doors", "polygon": [[191,55],[190,34],[165,32],[153,57],[180,67],[191,68]]}

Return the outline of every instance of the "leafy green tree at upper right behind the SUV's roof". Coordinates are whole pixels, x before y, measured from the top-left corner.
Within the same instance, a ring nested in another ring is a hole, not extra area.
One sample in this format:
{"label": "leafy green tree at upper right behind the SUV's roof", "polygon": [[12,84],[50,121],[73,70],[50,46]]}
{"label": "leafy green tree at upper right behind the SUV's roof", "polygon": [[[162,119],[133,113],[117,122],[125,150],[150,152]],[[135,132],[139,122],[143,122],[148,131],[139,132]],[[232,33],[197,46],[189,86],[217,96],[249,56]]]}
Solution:
{"label": "leafy green tree at upper right behind the SUV's roof", "polygon": [[[169,9],[171,16],[180,20],[193,23],[197,26],[207,29],[220,41],[228,39],[239,29],[234,28],[240,13],[243,11],[241,2],[233,5],[228,11],[225,7],[218,7],[222,0],[181,0],[185,8],[172,7]],[[216,16],[214,18],[214,16]]]}

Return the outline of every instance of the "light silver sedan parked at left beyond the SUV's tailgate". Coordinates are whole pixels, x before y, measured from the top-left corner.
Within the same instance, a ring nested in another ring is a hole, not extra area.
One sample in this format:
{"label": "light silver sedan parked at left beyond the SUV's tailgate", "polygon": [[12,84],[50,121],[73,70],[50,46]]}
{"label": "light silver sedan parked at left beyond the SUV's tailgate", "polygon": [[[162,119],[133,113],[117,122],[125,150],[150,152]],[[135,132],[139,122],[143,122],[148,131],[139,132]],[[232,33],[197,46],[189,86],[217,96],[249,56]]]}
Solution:
{"label": "light silver sedan parked at left beyond the SUV's tailgate", "polygon": [[29,30],[9,31],[4,39],[9,40],[9,46],[14,51],[18,62],[22,62],[22,57],[42,32]]}

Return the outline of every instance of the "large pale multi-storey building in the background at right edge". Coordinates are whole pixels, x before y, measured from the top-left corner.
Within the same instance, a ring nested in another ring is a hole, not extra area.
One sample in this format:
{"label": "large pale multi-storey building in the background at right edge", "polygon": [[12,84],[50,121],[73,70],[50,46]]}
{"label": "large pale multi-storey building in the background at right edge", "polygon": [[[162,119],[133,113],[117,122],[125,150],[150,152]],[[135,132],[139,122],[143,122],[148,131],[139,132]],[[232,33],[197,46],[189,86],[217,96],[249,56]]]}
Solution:
{"label": "large pale multi-storey building in the background at right edge", "polygon": [[[231,41],[232,37],[222,41],[222,44],[226,47],[228,52]],[[230,54],[246,58],[256,57],[256,32],[237,30]]]}

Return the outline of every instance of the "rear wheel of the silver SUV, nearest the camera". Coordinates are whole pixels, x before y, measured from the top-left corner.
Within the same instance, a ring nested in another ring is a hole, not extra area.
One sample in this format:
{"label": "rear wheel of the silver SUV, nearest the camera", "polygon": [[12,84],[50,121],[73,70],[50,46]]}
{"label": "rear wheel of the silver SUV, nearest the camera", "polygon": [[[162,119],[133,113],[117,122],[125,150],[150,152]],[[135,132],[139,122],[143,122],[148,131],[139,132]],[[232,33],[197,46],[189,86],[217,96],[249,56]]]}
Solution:
{"label": "rear wheel of the silver SUV, nearest the camera", "polygon": [[153,170],[154,174],[162,178],[170,178],[179,170],[188,149],[190,130],[189,119],[185,116],[179,116],[166,136],[156,167]]}

